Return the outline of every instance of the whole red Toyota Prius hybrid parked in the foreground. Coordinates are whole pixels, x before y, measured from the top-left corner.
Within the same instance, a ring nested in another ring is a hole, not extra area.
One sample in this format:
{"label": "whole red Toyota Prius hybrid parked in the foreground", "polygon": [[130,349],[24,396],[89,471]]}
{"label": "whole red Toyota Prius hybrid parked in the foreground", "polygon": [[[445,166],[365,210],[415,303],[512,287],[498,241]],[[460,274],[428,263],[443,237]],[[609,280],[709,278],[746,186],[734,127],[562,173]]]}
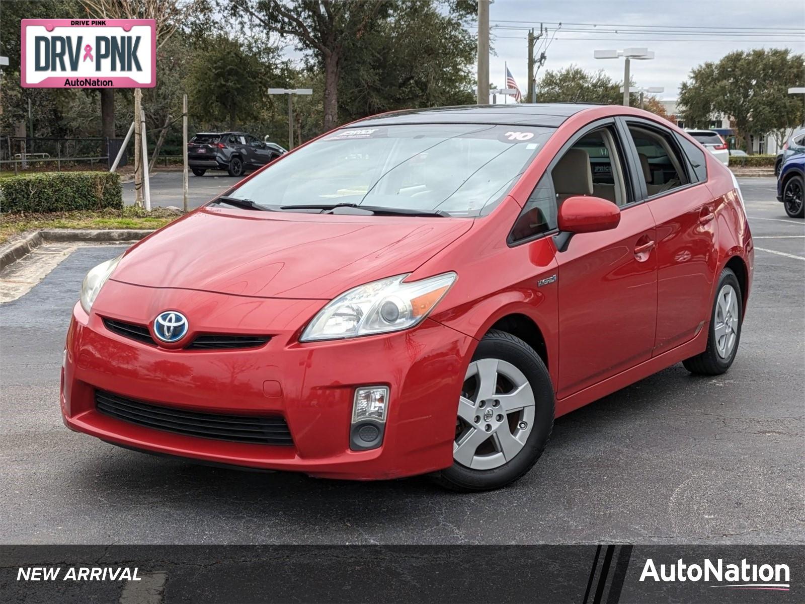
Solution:
{"label": "whole red Toyota Prius hybrid parked in the foreground", "polygon": [[89,271],[61,410],[150,453],[493,489],[555,417],[728,370],[752,267],[732,173],[653,114],[382,114]]}

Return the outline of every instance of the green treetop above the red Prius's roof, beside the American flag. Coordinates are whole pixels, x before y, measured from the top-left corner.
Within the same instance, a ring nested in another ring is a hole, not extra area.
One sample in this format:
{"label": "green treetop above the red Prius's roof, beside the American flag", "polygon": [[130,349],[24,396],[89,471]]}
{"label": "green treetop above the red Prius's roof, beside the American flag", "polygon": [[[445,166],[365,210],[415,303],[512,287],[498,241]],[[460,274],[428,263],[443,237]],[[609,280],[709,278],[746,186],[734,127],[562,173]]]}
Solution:
{"label": "green treetop above the red Prius's roof, beside the American flag", "polygon": [[[576,64],[564,69],[545,72],[537,83],[537,100],[543,103],[605,103],[620,105],[623,102],[621,83],[606,75],[603,69],[585,71]],[[631,95],[632,105],[637,100]]]}

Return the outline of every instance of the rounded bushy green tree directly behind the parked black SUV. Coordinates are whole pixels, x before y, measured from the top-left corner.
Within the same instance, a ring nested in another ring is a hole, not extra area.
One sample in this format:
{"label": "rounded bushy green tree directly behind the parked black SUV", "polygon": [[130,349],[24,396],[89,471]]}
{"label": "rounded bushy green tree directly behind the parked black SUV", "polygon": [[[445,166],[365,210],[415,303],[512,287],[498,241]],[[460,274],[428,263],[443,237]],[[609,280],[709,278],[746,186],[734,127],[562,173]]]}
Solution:
{"label": "rounded bushy green tree directly behind the parked black SUV", "polygon": [[220,124],[226,116],[230,130],[238,120],[257,117],[268,89],[266,63],[242,43],[225,35],[206,39],[204,52],[196,56],[188,77],[192,113]]}

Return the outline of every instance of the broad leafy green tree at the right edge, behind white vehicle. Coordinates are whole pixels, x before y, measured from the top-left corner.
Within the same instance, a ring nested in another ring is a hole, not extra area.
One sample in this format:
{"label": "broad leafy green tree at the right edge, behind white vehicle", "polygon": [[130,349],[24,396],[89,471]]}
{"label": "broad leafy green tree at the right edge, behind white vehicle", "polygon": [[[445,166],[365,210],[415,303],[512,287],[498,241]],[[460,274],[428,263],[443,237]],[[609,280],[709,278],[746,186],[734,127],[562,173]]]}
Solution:
{"label": "broad leafy green tree at the right edge, behind white vehicle", "polygon": [[708,61],[691,70],[679,87],[682,117],[691,127],[708,127],[723,114],[745,140],[803,121],[805,107],[788,88],[802,84],[803,55],[788,48],[756,48],[730,52],[717,63]]}

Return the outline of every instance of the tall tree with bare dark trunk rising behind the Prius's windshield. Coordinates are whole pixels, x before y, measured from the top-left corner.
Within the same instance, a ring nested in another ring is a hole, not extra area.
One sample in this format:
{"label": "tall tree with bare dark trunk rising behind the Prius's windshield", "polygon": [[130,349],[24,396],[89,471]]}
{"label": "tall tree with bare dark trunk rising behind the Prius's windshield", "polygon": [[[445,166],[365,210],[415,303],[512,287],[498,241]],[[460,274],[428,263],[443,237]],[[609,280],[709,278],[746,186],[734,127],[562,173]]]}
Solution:
{"label": "tall tree with bare dark trunk rising behind the Prius's windshield", "polygon": [[338,122],[338,81],[347,48],[362,52],[365,36],[385,17],[391,2],[374,0],[237,0],[233,14],[243,11],[257,23],[296,40],[296,48],[310,53],[312,63],[324,71],[324,130]]}

